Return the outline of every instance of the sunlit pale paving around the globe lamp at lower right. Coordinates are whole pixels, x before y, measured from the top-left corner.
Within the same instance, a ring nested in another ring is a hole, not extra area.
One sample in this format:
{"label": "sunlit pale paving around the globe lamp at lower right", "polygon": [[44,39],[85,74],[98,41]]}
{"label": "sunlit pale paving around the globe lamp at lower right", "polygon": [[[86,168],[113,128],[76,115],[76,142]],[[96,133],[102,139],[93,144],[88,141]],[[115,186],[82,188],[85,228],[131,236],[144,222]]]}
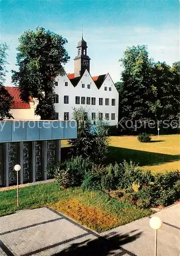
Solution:
{"label": "sunlit pale paving around the globe lamp at lower right", "polygon": [[[162,228],[158,230],[158,256],[179,256],[180,255],[180,204],[157,212],[153,216],[158,216],[164,222]],[[167,212],[167,214],[166,214]],[[119,226],[111,231],[102,233],[104,236],[114,231],[119,234],[131,233],[137,229],[142,232],[141,236],[131,243],[122,247],[138,256],[151,256],[154,254],[155,231],[149,226],[149,218],[143,218],[135,222]]]}

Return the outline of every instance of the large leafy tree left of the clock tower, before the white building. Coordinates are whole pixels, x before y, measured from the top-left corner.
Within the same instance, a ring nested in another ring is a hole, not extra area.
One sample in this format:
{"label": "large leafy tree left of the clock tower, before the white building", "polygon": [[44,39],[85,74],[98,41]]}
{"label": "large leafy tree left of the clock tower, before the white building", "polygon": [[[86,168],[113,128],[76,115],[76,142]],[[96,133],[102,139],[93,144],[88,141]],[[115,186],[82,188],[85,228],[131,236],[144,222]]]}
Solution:
{"label": "large leafy tree left of the clock tower, before the white building", "polygon": [[37,27],[36,31],[25,31],[19,38],[17,66],[12,71],[12,82],[19,88],[21,99],[37,98],[36,115],[41,119],[55,119],[53,103],[55,78],[64,75],[63,65],[69,60],[62,36]]}

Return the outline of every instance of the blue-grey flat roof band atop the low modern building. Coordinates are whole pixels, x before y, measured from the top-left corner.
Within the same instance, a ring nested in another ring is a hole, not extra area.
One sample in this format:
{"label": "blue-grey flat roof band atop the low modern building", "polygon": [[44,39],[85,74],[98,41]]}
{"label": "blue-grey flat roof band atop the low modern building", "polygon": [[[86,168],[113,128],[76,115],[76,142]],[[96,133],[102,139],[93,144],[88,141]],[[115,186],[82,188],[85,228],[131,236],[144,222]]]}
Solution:
{"label": "blue-grey flat roof band atop the low modern building", "polygon": [[76,121],[12,120],[0,121],[0,143],[77,138]]}

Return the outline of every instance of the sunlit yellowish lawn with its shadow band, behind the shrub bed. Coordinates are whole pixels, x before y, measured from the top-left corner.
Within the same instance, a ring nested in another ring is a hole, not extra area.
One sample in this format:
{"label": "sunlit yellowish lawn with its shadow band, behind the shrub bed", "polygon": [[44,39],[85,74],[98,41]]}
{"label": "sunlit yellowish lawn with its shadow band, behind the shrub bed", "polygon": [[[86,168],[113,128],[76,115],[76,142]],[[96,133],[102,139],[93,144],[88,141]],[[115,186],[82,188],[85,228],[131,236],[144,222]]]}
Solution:
{"label": "sunlit yellowish lawn with its shadow band, behind the shrub bed", "polygon": [[[180,169],[179,138],[179,135],[160,135],[158,140],[158,136],[152,136],[150,143],[142,143],[137,136],[111,136],[107,163],[132,159],[152,173]],[[63,140],[62,147],[67,146],[67,140]]]}

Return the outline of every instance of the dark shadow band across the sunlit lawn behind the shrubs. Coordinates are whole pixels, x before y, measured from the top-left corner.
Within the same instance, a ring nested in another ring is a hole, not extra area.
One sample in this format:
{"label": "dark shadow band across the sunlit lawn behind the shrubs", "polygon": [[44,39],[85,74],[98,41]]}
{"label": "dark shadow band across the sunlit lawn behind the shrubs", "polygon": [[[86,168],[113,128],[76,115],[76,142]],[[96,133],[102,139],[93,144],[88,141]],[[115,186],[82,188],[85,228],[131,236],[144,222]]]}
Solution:
{"label": "dark shadow band across the sunlit lawn behind the shrubs", "polygon": [[110,146],[109,149],[110,152],[106,160],[107,163],[120,163],[125,159],[128,162],[132,160],[135,163],[139,163],[140,166],[144,166],[158,165],[179,160],[179,155],[166,155],[116,146]]}

